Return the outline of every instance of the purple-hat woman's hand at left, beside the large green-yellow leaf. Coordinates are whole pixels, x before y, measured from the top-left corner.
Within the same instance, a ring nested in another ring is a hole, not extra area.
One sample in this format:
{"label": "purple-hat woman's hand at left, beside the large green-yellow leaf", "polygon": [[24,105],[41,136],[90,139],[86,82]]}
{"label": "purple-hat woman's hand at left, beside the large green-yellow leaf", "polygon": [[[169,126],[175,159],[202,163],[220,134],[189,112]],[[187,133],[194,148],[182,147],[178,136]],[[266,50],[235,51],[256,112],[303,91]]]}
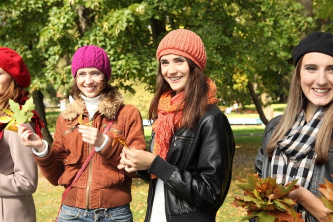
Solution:
{"label": "purple-hat woman's hand at left, beside the large green-yellow leaf", "polygon": [[18,127],[18,132],[20,136],[21,143],[25,147],[35,148],[38,152],[43,152],[45,145],[42,139],[36,134],[31,132],[30,129],[27,129],[27,126],[21,124]]}

